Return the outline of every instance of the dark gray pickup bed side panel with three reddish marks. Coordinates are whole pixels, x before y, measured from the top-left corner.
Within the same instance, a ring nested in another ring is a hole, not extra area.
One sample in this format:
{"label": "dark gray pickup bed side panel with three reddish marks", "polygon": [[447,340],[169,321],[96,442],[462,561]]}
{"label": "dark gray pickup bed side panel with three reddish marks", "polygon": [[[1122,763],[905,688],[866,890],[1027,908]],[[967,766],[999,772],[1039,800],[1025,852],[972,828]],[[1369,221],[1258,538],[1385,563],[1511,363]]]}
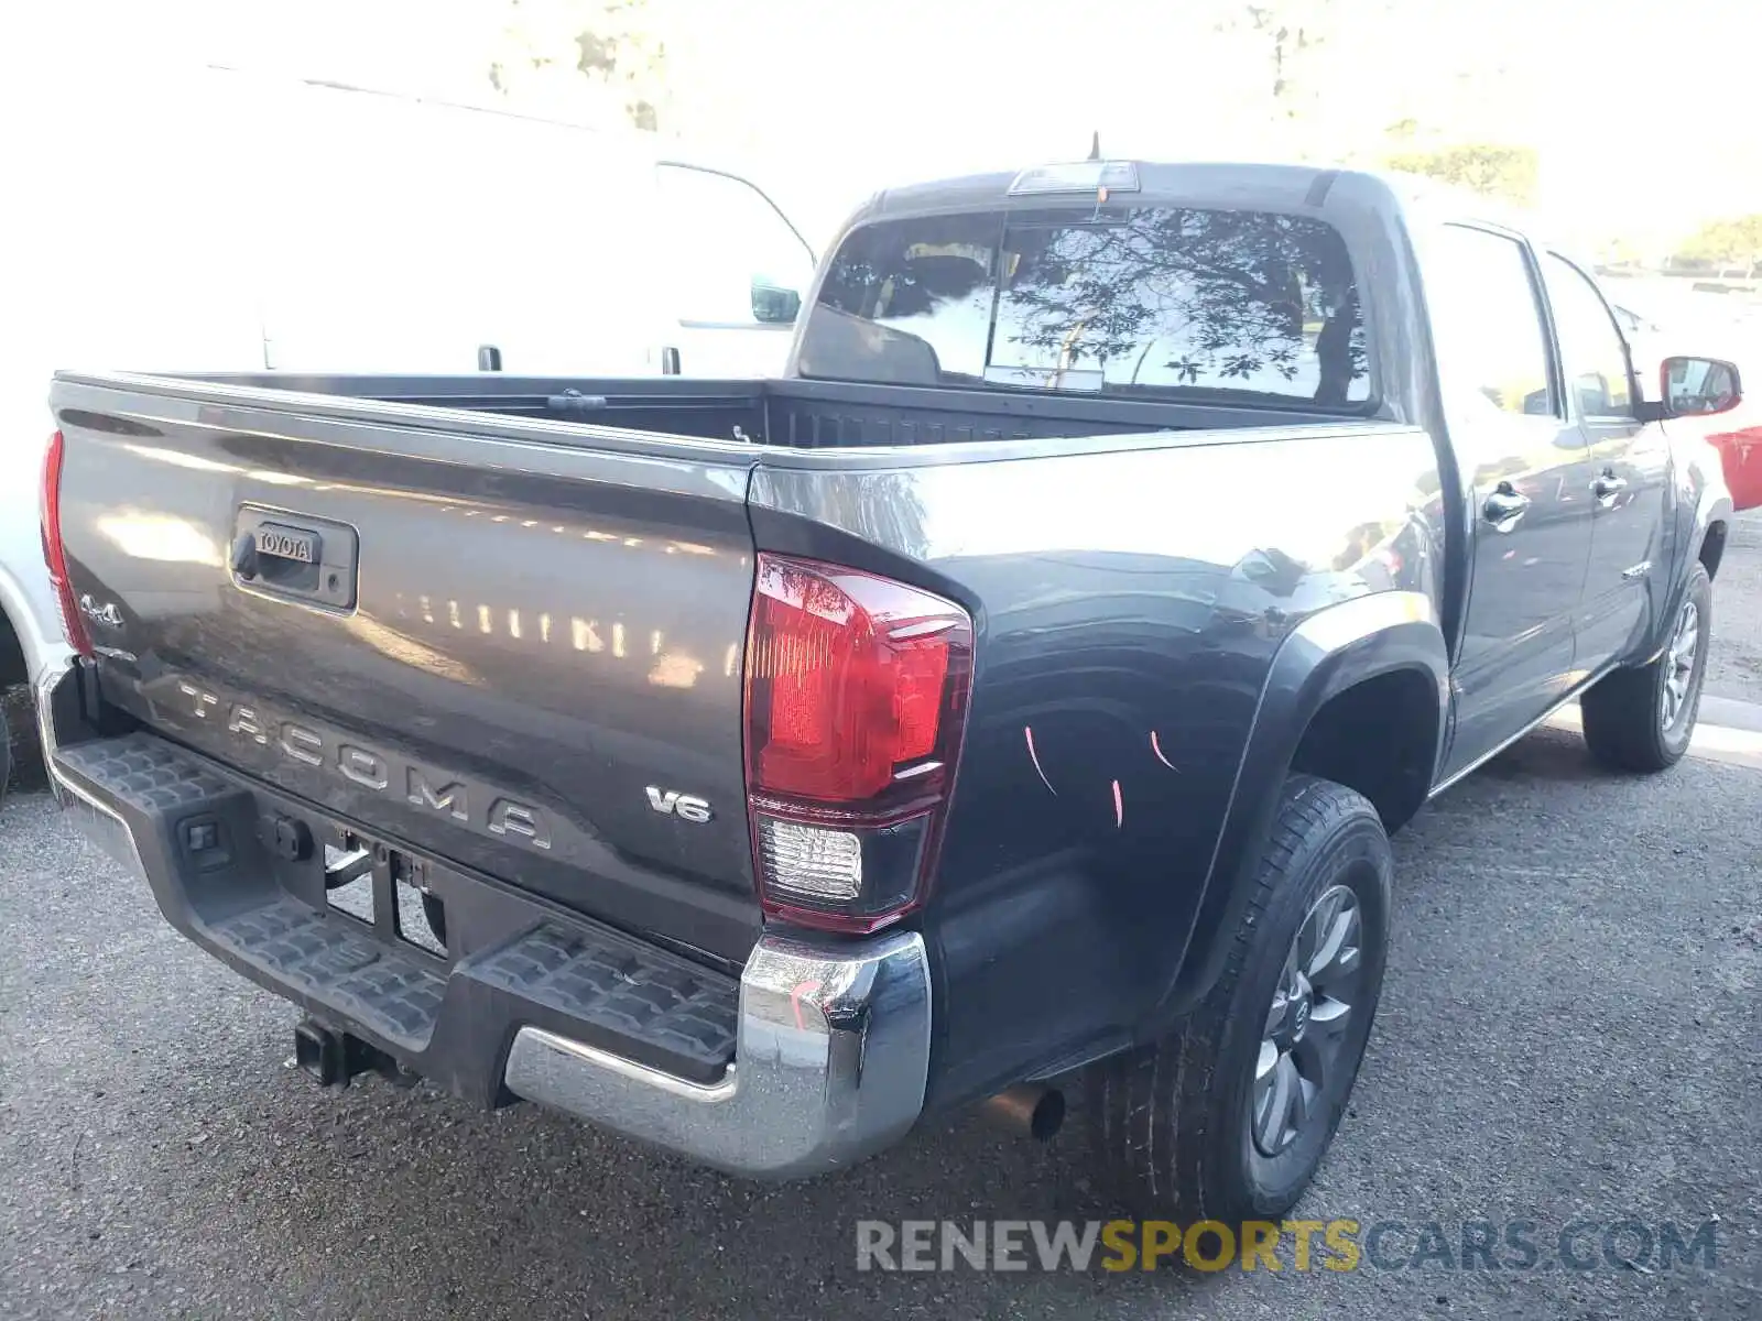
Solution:
{"label": "dark gray pickup bed side panel with three reddish marks", "polygon": [[966,752],[923,914],[932,1104],[1142,1030],[1207,882],[1237,861],[1218,856],[1221,828],[1281,646],[1330,608],[1441,590],[1438,461],[1418,428],[1038,444],[768,451],[751,488],[761,550],[909,578],[974,615]]}

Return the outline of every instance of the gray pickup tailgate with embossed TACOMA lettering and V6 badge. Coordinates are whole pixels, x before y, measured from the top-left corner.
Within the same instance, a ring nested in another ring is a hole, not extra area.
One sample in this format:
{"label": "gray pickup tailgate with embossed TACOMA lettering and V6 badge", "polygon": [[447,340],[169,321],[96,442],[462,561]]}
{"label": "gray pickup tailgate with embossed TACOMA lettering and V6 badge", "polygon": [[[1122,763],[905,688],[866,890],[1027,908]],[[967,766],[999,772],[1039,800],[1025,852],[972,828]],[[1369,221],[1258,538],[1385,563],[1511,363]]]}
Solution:
{"label": "gray pickup tailgate with embossed TACOMA lettering and V6 badge", "polygon": [[107,701],[379,838],[745,956],[751,458],[174,382],[53,403]]}

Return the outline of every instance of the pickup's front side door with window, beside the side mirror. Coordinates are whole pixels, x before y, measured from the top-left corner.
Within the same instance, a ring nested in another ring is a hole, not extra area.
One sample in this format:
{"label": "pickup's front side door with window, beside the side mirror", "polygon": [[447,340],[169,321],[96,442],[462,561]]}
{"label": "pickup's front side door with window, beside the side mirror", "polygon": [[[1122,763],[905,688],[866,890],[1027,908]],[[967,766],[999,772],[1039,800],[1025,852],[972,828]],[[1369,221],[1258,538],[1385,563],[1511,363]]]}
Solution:
{"label": "pickup's front side door with window, beside the side mirror", "polygon": [[1566,403],[1591,454],[1591,564],[1579,606],[1579,668],[1625,657],[1665,572],[1662,423],[1640,423],[1621,331],[1591,278],[1558,254],[1542,259],[1566,366]]}

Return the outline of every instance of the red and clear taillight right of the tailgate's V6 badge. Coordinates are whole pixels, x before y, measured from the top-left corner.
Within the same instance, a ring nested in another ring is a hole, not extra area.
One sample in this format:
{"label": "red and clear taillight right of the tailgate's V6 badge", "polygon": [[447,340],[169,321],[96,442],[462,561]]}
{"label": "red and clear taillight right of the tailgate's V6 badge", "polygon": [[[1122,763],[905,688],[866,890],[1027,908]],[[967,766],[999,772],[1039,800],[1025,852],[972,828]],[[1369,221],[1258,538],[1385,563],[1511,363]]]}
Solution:
{"label": "red and clear taillight right of the tailgate's V6 badge", "polygon": [[872,932],[925,898],[973,687],[973,620],[858,569],[759,555],[747,810],[772,916]]}

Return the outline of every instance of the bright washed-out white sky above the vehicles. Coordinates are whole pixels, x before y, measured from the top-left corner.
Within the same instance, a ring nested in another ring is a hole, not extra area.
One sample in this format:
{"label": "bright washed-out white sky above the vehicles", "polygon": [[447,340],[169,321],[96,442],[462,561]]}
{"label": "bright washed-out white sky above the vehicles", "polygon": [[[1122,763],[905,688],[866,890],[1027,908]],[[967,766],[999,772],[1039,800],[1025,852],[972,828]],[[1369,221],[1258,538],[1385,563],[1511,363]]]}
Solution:
{"label": "bright washed-out white sky above the vehicles", "polygon": [[[1262,0],[1329,41],[1295,65],[1281,118],[1263,33],[1226,0],[650,0],[666,28],[668,120],[698,155],[754,169],[825,236],[886,183],[1114,155],[1374,160],[1390,123],[1420,143],[1542,153],[1556,231],[1667,243],[1762,211],[1748,0]],[[567,0],[523,0],[534,25]],[[507,0],[58,0],[5,19],[0,132],[127,113],[58,97],[58,70],[164,77],[203,63],[493,97]],[[35,88],[35,92],[32,90]],[[527,95],[539,95],[532,90]],[[537,104],[537,109],[548,109]]]}

